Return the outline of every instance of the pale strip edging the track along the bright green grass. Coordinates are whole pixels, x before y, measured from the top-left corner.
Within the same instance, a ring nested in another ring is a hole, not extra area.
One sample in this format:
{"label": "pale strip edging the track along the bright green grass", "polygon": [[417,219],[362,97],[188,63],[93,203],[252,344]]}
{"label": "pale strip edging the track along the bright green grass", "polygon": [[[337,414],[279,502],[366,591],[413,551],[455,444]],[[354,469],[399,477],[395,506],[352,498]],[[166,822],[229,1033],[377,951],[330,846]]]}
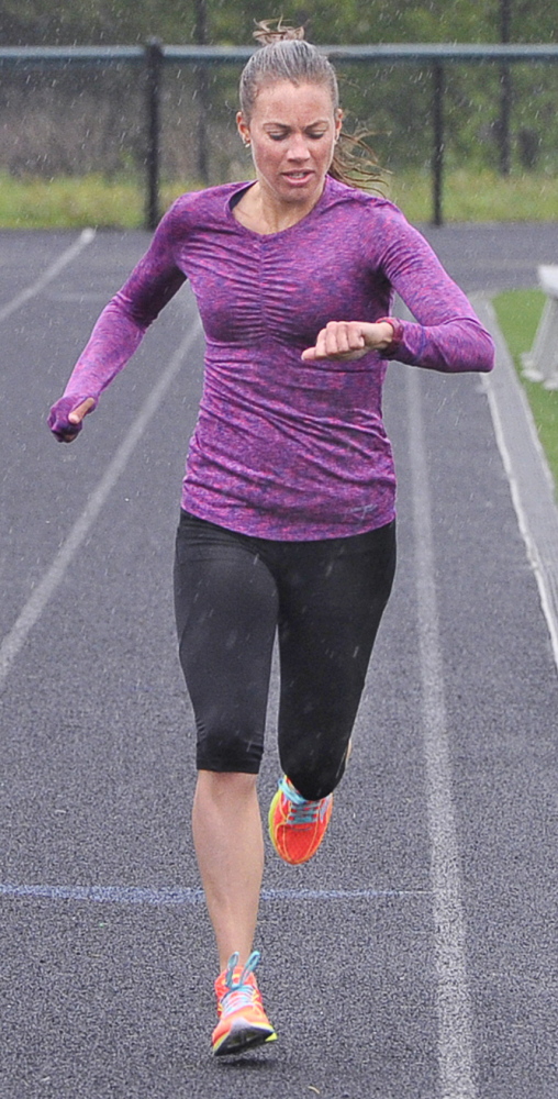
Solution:
{"label": "pale strip edging the track along the bright green grass", "polygon": [[475,308],[496,346],[495,370],[480,377],[558,668],[558,509],[553,476],[494,308],[484,296],[475,297]]}

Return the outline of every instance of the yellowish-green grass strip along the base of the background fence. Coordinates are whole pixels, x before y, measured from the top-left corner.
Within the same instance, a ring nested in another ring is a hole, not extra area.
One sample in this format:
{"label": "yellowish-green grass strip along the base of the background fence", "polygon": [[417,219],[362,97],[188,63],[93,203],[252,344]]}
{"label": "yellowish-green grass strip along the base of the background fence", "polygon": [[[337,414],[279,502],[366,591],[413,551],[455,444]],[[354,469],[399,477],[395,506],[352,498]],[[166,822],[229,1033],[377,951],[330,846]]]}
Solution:
{"label": "yellowish-green grass strip along the base of the background fence", "polygon": [[[161,188],[161,208],[197,185],[188,180]],[[390,177],[389,193],[413,222],[432,218],[427,173]],[[446,221],[553,221],[558,218],[555,176],[538,173],[503,179],[488,170],[447,173],[443,199]],[[145,217],[145,185],[126,176],[63,176],[55,179],[0,174],[0,229],[138,229]]]}

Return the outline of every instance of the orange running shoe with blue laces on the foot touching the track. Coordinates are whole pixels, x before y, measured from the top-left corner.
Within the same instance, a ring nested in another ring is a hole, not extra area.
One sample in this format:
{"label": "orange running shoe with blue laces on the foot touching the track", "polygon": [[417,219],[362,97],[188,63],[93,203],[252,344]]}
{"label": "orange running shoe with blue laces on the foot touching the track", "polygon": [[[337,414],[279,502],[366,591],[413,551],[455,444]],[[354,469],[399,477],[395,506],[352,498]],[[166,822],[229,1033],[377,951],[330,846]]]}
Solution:
{"label": "orange running shoe with blue laces on the foot touching the track", "polygon": [[238,954],[232,954],[215,981],[219,1022],[211,1045],[216,1057],[277,1040],[254,976],[258,962],[259,951],[253,951],[245,966],[238,965]]}

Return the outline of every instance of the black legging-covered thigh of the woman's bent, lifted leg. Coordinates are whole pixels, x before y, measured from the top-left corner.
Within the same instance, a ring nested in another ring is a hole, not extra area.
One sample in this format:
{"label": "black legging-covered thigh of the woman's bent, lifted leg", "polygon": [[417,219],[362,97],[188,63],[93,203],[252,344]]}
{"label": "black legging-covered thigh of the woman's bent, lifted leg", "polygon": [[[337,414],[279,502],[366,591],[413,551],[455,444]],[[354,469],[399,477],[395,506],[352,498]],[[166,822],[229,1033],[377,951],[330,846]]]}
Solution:
{"label": "black legging-covered thigh of the woman's bent, lifted leg", "polygon": [[[389,524],[334,540],[331,547],[320,543],[314,559],[302,554],[281,586],[279,745],[295,786],[293,773],[310,782],[314,768],[325,785],[343,774],[394,568],[395,530]],[[311,797],[308,790],[301,792]]]}

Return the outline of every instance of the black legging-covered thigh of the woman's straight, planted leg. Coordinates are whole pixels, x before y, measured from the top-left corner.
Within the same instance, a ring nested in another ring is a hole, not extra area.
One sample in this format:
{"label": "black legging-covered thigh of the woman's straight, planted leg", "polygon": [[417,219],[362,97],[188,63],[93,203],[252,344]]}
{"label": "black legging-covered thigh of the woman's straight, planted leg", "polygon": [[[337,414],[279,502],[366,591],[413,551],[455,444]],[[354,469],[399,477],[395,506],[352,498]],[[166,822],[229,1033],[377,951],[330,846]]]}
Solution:
{"label": "black legging-covered thigh of the woman's straight, planted leg", "polygon": [[277,625],[275,580],[247,540],[182,517],[175,609],[198,767],[256,774]]}

